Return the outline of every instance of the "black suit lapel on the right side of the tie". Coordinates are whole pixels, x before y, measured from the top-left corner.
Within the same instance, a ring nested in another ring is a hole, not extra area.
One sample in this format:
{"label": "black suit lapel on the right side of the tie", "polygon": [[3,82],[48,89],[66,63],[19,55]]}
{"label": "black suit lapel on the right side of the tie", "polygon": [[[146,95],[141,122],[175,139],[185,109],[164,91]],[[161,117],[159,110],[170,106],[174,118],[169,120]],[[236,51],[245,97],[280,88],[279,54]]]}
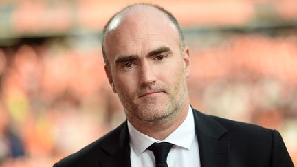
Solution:
{"label": "black suit lapel on the right side of the tie", "polygon": [[228,132],[219,122],[193,109],[201,167],[228,167]]}

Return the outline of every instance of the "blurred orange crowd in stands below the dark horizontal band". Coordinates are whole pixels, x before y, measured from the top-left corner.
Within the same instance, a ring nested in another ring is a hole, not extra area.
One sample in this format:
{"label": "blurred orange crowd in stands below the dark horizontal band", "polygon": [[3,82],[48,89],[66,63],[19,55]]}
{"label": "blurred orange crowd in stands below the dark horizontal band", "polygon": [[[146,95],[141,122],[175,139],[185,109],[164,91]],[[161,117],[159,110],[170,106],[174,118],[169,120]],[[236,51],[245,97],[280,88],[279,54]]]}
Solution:
{"label": "blurred orange crowd in stands below the dark horizontal band", "polygon": [[[0,49],[0,166],[51,166],[124,120],[100,41],[47,38]],[[191,104],[281,131],[297,163],[297,38],[189,38]]]}

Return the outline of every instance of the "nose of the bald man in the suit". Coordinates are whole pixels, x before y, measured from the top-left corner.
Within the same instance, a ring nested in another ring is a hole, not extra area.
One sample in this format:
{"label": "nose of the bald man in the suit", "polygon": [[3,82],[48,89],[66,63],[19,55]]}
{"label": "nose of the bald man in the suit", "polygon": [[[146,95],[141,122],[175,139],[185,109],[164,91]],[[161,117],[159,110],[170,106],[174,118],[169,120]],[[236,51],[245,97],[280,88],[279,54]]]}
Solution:
{"label": "nose of the bald man in the suit", "polygon": [[141,87],[151,87],[156,82],[155,70],[153,65],[148,62],[143,62],[140,71],[140,86]]}

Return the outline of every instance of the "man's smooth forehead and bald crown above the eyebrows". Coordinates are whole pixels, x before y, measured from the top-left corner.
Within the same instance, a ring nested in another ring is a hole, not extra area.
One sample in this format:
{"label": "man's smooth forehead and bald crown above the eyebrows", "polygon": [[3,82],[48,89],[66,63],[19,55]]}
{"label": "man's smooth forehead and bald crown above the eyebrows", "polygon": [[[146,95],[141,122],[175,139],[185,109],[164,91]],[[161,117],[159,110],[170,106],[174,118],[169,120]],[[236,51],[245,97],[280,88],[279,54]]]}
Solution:
{"label": "man's smooth forehead and bald crown above the eyebrows", "polygon": [[160,46],[179,47],[179,34],[168,16],[155,8],[135,8],[115,16],[104,38],[109,59],[144,54]]}

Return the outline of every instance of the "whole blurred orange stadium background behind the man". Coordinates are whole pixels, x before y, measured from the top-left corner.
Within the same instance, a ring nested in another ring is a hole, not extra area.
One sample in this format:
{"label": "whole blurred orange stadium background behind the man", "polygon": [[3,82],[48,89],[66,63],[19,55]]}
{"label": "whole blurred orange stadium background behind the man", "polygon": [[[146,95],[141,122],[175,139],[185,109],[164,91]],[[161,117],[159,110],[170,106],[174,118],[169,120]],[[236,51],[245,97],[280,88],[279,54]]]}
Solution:
{"label": "whole blurred orange stadium background behind the man", "polygon": [[[125,120],[100,36],[135,2],[0,1],[0,166],[52,166]],[[277,129],[297,166],[297,1],[141,2],[184,30],[192,106]]]}

